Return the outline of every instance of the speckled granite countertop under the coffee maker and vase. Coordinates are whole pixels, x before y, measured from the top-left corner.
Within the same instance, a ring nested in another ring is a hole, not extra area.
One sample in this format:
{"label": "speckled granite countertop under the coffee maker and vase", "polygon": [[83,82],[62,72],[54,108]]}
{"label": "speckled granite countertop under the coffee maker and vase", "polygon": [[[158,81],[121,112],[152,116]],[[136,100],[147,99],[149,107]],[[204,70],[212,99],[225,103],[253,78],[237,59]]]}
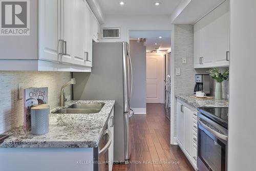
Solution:
{"label": "speckled granite countertop under the coffee maker and vase", "polygon": [[216,100],[216,99],[196,99],[191,97],[193,95],[178,94],[176,98],[184,101],[185,103],[193,106],[194,108],[213,107],[213,108],[228,108],[228,100]]}

